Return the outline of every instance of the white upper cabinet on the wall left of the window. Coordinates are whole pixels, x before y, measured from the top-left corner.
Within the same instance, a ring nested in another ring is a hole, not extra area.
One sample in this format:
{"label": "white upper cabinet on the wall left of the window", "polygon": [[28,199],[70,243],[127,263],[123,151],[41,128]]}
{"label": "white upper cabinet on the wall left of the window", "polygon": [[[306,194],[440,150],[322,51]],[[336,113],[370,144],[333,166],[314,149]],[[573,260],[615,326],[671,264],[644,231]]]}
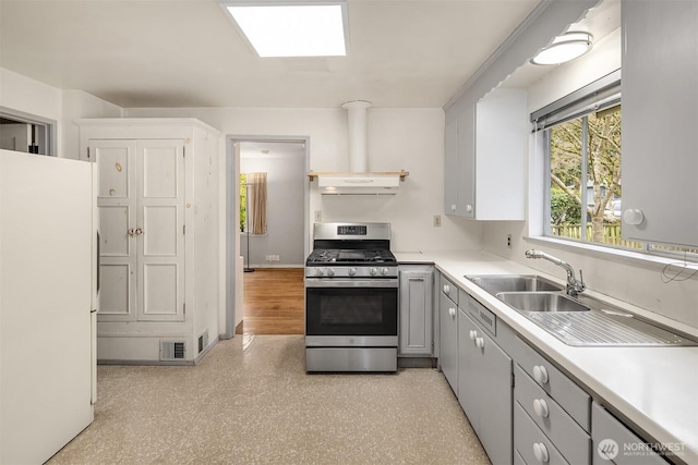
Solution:
{"label": "white upper cabinet on the wall left of the window", "polygon": [[528,126],[526,91],[494,89],[446,117],[446,215],[524,220]]}

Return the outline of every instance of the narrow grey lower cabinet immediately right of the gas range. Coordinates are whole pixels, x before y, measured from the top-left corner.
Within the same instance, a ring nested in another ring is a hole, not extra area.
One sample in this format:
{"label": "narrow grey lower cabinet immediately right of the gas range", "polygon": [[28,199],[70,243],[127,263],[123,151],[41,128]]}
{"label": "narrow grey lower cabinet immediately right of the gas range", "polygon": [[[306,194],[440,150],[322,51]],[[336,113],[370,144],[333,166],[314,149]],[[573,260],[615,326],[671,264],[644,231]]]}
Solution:
{"label": "narrow grey lower cabinet immediately right of the gas range", "polygon": [[434,354],[434,267],[400,265],[400,336],[398,355],[431,357]]}

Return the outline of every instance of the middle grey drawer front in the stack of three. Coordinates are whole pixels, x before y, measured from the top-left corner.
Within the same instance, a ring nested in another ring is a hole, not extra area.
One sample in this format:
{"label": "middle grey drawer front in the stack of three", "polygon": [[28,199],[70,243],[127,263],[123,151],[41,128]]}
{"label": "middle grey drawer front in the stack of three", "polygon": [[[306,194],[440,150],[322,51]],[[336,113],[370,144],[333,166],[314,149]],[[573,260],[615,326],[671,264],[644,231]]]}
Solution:
{"label": "middle grey drawer front in the stack of three", "polygon": [[521,367],[514,370],[516,401],[569,463],[588,464],[589,435]]}

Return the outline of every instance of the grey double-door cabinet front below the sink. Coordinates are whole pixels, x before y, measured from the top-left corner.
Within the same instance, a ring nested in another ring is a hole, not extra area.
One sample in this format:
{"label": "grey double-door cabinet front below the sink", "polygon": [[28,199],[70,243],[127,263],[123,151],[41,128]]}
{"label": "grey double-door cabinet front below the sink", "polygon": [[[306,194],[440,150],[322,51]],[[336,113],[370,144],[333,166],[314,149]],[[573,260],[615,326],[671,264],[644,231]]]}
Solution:
{"label": "grey double-door cabinet front below the sink", "polygon": [[[494,342],[494,334],[489,335],[469,316],[472,310],[489,310],[466,298],[465,303],[460,298],[458,315],[458,401],[492,463],[508,464],[513,460],[512,357]],[[496,321],[494,315],[488,317]],[[497,332],[506,330],[500,325]]]}

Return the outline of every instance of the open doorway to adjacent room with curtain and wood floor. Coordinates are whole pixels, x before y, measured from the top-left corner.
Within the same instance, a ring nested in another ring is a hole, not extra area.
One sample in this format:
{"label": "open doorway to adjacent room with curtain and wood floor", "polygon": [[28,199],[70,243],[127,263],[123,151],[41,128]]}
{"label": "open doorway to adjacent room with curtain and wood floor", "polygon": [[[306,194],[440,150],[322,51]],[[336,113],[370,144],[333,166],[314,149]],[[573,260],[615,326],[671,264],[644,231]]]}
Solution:
{"label": "open doorway to adjacent room with curtain and wood floor", "polygon": [[227,330],[304,333],[308,166],[308,137],[229,136]]}

